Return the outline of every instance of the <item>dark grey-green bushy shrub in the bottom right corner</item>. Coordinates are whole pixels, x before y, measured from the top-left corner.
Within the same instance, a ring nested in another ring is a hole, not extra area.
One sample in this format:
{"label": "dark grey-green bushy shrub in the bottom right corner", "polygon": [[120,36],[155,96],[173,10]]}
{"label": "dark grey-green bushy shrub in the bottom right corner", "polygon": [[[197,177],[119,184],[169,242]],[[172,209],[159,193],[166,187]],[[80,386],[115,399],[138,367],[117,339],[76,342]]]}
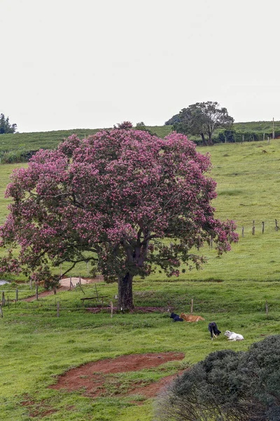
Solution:
{"label": "dark grey-green bushy shrub in the bottom right corner", "polygon": [[158,397],[155,420],[280,420],[280,335],[209,354]]}

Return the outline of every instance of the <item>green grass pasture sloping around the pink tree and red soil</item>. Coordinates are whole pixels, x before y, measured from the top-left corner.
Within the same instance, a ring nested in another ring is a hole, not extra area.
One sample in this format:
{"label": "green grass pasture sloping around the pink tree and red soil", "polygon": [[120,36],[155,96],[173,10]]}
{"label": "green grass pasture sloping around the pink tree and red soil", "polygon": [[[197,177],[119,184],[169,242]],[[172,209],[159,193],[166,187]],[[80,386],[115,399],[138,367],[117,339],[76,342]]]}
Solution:
{"label": "green grass pasture sloping around the pink tree and red soil", "polygon": [[[207,148],[198,148],[206,153]],[[263,152],[265,151],[265,152]],[[20,301],[3,307],[1,328],[1,420],[94,420],[151,421],[153,398],[129,392],[136,385],[152,385],[161,377],[203,359],[218,349],[245,350],[265,335],[280,333],[280,140],[215,145],[209,149],[213,177],[218,185],[214,201],[216,215],[237,222],[239,243],[217,258],[204,246],[208,264],[204,269],[167,279],[157,271],[134,282],[134,304],[141,309],[131,314],[113,314],[109,309],[93,314],[84,309],[80,288],[57,292],[34,302]],[[8,199],[3,189],[15,166],[0,166],[0,223]],[[252,222],[255,221],[255,235]],[[265,231],[262,234],[262,222]],[[244,236],[241,235],[244,227]],[[58,269],[55,269],[58,270]],[[87,276],[80,264],[72,276]],[[22,279],[23,280],[23,279]],[[13,298],[15,286],[2,287]],[[100,295],[114,302],[116,283],[97,285]],[[85,295],[95,295],[94,284],[83,286]],[[25,295],[34,294],[25,290]],[[198,323],[173,323],[166,311],[188,313],[194,300]],[[60,312],[57,317],[57,302]],[[268,314],[265,304],[268,305]],[[108,304],[108,302],[106,303]],[[90,305],[90,303],[89,303]],[[143,307],[161,311],[144,312]],[[222,334],[211,341],[209,321],[218,328],[241,333],[245,340],[228,342]],[[183,352],[183,361],[170,361],[156,368],[106,375],[106,387],[95,399],[87,390],[69,392],[50,389],[57,376],[90,361],[125,354]]]}

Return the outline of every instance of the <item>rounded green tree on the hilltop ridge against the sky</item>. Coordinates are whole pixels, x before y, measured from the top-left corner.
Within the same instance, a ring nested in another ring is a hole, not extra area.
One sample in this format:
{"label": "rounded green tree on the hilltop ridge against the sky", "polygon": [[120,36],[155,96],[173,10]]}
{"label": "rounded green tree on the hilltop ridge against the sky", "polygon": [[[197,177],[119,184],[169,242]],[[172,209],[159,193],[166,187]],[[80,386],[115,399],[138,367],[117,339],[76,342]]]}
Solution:
{"label": "rounded green tree on the hilltop ridge against the sky", "polygon": [[228,110],[220,108],[218,102],[197,102],[181,110],[173,129],[185,135],[201,135],[203,145],[213,145],[212,136],[216,128],[230,128],[234,121]]}

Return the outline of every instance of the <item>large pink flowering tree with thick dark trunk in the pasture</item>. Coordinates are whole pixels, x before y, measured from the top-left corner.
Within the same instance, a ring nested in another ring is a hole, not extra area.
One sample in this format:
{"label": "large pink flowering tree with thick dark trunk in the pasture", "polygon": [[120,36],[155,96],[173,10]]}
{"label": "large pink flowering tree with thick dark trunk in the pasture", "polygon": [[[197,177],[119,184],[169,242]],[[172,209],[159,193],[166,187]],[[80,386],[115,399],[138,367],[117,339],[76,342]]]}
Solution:
{"label": "large pink flowering tree with thick dark trunk in the pasture", "polygon": [[118,307],[130,309],[134,276],[155,267],[178,276],[182,264],[202,265],[205,242],[221,255],[237,241],[234,222],[214,218],[210,167],[209,156],[177,133],[160,139],[114,128],[41,150],[6,189],[12,202],[0,228],[8,248],[0,270],[36,280],[51,276],[50,262],[70,262],[71,270],[91,261],[106,281],[118,281]]}

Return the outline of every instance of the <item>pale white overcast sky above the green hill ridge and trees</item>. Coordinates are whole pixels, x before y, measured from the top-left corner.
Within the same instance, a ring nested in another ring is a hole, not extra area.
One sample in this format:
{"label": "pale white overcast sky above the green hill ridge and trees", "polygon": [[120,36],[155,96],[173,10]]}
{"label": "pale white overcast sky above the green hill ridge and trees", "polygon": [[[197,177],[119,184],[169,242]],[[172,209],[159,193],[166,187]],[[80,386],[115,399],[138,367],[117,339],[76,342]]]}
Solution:
{"label": "pale white overcast sky above the green hill ridge and trees", "polygon": [[162,126],[218,101],[280,120],[279,0],[0,0],[0,112],[18,131]]}

